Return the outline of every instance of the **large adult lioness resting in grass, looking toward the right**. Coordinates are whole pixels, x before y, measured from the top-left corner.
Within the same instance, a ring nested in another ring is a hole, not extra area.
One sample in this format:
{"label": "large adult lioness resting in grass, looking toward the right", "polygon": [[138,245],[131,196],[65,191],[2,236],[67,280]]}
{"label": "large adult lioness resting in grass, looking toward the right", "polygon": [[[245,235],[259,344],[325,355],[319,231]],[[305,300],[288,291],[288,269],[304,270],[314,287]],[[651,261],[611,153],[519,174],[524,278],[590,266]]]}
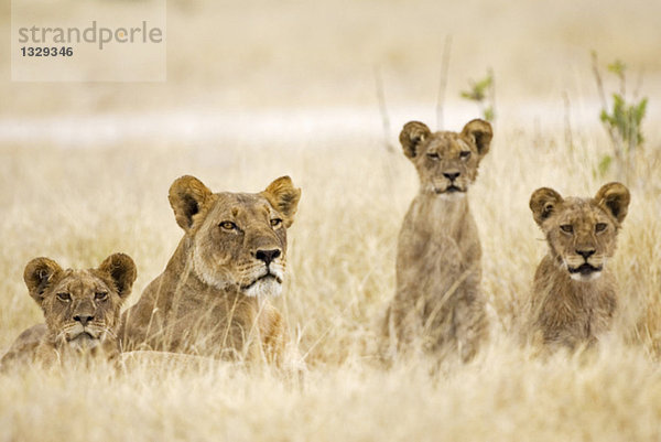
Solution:
{"label": "large adult lioness resting in grass, looking toward the right", "polygon": [[193,176],[174,181],[169,198],[184,237],[124,313],[124,349],[280,365],[286,330],[268,298],[282,290],[300,197],[289,176],[257,194],[213,193]]}

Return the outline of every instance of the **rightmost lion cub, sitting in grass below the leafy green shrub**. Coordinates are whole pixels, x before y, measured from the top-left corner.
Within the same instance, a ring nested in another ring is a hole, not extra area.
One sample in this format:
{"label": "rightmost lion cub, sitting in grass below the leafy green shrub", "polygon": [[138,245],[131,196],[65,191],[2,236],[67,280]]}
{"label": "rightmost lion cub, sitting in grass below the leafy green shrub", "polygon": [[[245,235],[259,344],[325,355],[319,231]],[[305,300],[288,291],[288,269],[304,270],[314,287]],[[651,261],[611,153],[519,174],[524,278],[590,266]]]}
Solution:
{"label": "rightmost lion cub, sitting in grass below the leafy green shrub", "polygon": [[615,254],[629,201],[620,183],[605,184],[594,198],[563,198],[548,187],[534,191],[530,209],[549,244],[530,303],[534,342],[572,349],[595,343],[610,328],[617,289],[606,263]]}

